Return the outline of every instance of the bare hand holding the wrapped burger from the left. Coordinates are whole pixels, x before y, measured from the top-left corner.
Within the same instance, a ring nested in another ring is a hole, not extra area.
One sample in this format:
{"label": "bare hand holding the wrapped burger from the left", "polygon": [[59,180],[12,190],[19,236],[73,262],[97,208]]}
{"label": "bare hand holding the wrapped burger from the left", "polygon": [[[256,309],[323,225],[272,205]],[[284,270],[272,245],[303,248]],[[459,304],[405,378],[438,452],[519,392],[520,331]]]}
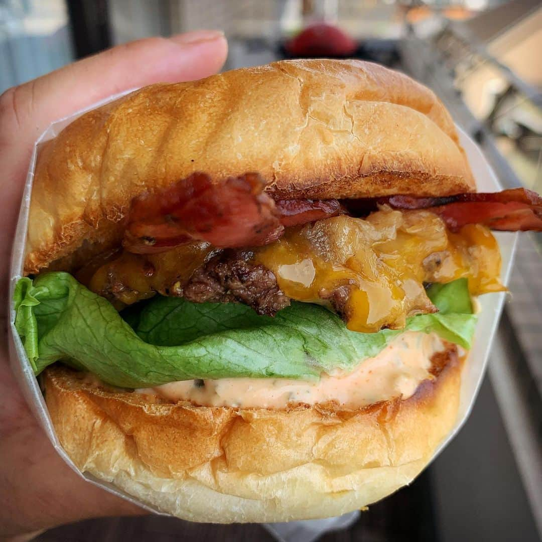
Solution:
{"label": "bare hand holding the wrapped burger from the left", "polygon": [[[51,122],[125,89],[216,73],[226,55],[227,43],[215,31],[149,38],[75,62],[0,96],[2,307],[8,304],[11,240],[32,146],[39,135]],[[1,329],[0,539],[85,518],[145,513],[82,480],[57,455],[11,375],[5,315]]]}

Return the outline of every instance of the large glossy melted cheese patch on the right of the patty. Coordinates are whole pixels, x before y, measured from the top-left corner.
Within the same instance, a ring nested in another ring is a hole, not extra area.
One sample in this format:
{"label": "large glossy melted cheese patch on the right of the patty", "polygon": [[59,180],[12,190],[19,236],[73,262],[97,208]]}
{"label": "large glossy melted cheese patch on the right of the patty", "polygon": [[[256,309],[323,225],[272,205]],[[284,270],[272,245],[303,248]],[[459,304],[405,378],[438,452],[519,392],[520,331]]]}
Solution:
{"label": "large glossy melted cheese patch on the right of the patty", "polygon": [[399,329],[409,316],[434,312],[424,282],[467,278],[473,295],[504,289],[490,231],[470,224],[453,234],[428,211],[328,218],[291,229],[260,249],[256,260],[292,299],[318,303],[348,288],[343,313],[353,331]]}

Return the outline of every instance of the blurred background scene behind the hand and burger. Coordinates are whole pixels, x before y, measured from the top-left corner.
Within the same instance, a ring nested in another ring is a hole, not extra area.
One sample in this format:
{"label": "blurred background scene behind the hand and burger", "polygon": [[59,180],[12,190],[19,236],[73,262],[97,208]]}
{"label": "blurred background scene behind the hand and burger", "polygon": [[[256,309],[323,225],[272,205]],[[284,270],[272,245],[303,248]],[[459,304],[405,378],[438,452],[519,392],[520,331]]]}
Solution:
{"label": "blurred background scene behind the hand and burger", "polygon": [[[542,192],[542,3],[534,0],[0,0],[0,93],[118,43],[223,29],[225,69],[358,57],[434,89],[504,188]],[[539,540],[542,237],[521,235],[511,296],[472,416],[412,486],[341,531],[283,539]],[[91,520],[38,540],[274,540],[266,527]],[[280,539],[280,538],[279,538]]]}

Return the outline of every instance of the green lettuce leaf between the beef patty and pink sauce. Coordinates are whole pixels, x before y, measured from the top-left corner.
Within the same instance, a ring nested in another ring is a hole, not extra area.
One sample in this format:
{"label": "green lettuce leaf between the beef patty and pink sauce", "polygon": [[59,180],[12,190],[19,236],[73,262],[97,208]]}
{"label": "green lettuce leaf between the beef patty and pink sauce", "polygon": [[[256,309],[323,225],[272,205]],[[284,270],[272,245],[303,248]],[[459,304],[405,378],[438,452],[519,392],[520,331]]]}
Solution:
{"label": "green lettuce leaf between the beef patty and pink sauce", "polygon": [[[476,317],[466,280],[428,291],[439,313],[408,320],[469,348]],[[156,296],[121,314],[68,273],[23,278],[15,326],[34,371],[62,361],[105,382],[139,388],[193,378],[318,378],[376,356],[402,330],[357,333],[318,305],[293,302],[276,317],[239,304]]]}

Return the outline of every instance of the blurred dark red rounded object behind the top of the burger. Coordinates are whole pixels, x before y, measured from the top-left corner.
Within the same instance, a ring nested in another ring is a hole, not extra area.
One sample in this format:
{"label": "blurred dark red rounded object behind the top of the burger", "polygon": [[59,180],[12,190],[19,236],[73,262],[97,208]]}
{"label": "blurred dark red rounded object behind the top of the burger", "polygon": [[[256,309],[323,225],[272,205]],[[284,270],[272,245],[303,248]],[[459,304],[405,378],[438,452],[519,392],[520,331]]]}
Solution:
{"label": "blurred dark red rounded object behind the top of the burger", "polygon": [[349,56],[357,44],[340,28],[331,24],[316,23],[302,30],[286,44],[292,56]]}

